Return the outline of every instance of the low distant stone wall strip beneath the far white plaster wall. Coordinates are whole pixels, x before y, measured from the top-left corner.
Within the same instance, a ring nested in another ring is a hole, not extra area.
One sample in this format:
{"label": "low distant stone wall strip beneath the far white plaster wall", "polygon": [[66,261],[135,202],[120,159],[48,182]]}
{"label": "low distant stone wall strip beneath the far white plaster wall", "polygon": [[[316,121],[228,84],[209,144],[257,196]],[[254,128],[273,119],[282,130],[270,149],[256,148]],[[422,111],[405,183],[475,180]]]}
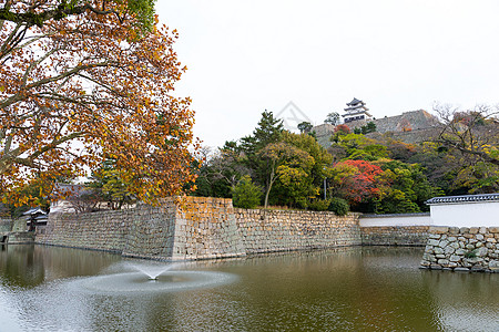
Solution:
{"label": "low distant stone wall strip beneath the far white plaster wall", "polygon": [[425,246],[430,226],[360,227],[364,246]]}

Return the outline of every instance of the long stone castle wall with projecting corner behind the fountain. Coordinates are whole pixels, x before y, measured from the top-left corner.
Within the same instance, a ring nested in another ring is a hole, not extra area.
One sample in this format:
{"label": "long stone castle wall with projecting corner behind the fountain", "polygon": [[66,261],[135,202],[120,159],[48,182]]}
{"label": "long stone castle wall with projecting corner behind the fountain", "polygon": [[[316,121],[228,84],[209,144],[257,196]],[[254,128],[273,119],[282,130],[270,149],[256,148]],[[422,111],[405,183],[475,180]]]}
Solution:
{"label": "long stone castle wall with projecting corner behind the fountain", "polygon": [[361,245],[355,214],[234,209],[231,199],[203,197],[161,207],[50,215],[35,241],[172,260]]}

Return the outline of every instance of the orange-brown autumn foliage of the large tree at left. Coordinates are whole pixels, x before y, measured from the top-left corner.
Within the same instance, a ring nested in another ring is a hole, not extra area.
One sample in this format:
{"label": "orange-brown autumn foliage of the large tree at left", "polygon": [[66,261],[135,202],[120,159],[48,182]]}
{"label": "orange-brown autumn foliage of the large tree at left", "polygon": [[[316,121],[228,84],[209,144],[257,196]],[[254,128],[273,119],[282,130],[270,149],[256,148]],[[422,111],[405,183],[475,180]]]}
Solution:
{"label": "orange-brown autumn foliage of the large tree at left", "polygon": [[30,203],[21,191],[33,183],[47,196],[55,180],[83,175],[103,158],[115,159],[128,189],[147,203],[194,179],[194,112],[189,97],[173,95],[185,71],[173,50],[177,33],[156,23],[139,37],[135,25],[130,12],[91,11],[41,28],[2,24],[3,201]]}

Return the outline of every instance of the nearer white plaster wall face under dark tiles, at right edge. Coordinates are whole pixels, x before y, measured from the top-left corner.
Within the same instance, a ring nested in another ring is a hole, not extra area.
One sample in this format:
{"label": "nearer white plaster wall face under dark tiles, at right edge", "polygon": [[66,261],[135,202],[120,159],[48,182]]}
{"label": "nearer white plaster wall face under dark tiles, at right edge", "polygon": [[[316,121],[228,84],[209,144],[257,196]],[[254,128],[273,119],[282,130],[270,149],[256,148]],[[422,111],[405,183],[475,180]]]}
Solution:
{"label": "nearer white plaster wall face under dark tiles, at right edge", "polygon": [[431,205],[430,212],[436,226],[499,226],[499,201]]}

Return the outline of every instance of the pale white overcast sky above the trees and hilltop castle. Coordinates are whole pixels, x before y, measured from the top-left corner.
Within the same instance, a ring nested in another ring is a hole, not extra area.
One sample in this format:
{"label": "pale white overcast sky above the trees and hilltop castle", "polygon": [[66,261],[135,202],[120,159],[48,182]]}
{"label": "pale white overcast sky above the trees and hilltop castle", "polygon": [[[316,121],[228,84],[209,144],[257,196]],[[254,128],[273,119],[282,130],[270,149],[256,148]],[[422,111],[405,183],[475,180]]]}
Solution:
{"label": "pale white overcast sky above the trees and hilltop castle", "polygon": [[193,98],[203,145],[248,135],[289,102],[315,125],[353,97],[375,117],[499,102],[499,1],[157,0],[156,11],[180,32],[176,94]]}

